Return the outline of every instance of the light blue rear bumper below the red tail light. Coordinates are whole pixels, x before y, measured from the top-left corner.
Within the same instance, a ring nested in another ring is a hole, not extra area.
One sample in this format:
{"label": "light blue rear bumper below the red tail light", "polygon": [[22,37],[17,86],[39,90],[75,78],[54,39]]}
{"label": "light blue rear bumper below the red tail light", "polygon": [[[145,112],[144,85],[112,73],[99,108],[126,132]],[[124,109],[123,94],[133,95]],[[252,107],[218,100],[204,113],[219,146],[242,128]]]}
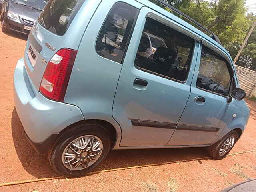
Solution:
{"label": "light blue rear bumper below the red tail light", "polygon": [[81,110],[73,105],[55,102],[34,93],[30,79],[20,59],[14,71],[14,103],[32,146],[45,153],[64,128],[84,120]]}

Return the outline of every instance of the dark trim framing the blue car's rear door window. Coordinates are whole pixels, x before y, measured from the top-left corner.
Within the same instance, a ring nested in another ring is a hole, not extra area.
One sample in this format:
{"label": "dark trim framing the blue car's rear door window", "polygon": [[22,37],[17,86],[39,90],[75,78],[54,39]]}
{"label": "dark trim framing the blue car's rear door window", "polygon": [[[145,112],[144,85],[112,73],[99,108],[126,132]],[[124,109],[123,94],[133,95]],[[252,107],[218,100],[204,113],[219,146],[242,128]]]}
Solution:
{"label": "dark trim framing the blue car's rear door window", "polygon": [[[194,54],[195,54],[195,50],[196,50],[196,44],[198,44],[198,43],[200,42],[200,41],[199,41],[200,38],[199,38],[199,37],[198,37],[198,38],[195,38],[196,36],[194,36],[194,35],[192,36],[192,34],[190,34],[189,32],[185,32],[186,30],[184,30],[184,29],[181,30],[182,28],[181,28],[180,26],[178,26],[178,25],[174,24],[173,22],[170,22],[170,21],[168,21],[168,20],[166,20],[166,19],[164,19],[164,18],[162,18],[162,17],[160,17],[160,16],[158,16],[158,15],[152,13],[152,12],[148,12],[148,13],[146,14],[145,18],[151,18],[151,19],[153,19],[153,20],[156,20],[157,22],[160,22],[160,23],[162,23],[162,24],[164,24],[164,25],[166,25],[166,26],[172,28],[173,30],[176,30],[176,31],[178,31],[178,32],[180,32],[180,33],[182,33],[182,34],[184,34],[184,35],[186,35],[186,36],[188,36],[188,37],[194,39],[193,52],[192,52],[192,57],[191,57],[190,65],[189,65],[189,67],[188,67],[188,72],[187,72],[187,74],[186,74],[186,78],[185,78],[184,81],[180,81],[180,80],[177,80],[177,79],[174,79],[174,78],[171,78],[171,77],[168,77],[168,76],[165,76],[165,75],[156,73],[156,72],[154,72],[154,71],[150,71],[150,70],[147,70],[147,69],[145,69],[145,68],[139,67],[138,65],[136,65],[136,63],[135,63],[135,61],[134,61],[134,66],[135,66],[135,68],[138,69],[138,70],[141,70],[141,71],[144,71],[144,72],[147,72],[147,73],[150,73],[150,74],[153,74],[153,75],[162,77],[162,78],[166,78],[166,79],[168,79],[168,80],[172,80],[172,81],[178,82],[178,83],[180,83],[180,84],[186,84],[186,82],[188,81],[188,75],[189,75],[190,70],[191,70],[191,64],[192,64],[192,61],[193,61],[193,58],[194,58]],[[144,24],[144,27],[145,27],[145,25],[146,25],[146,22],[145,22],[145,24]],[[140,40],[141,40],[141,38],[142,38],[143,32],[144,32],[144,28],[143,28],[143,31],[142,31]],[[185,32],[185,33],[184,33],[184,32]],[[136,58],[136,56],[135,56],[135,58]]]}

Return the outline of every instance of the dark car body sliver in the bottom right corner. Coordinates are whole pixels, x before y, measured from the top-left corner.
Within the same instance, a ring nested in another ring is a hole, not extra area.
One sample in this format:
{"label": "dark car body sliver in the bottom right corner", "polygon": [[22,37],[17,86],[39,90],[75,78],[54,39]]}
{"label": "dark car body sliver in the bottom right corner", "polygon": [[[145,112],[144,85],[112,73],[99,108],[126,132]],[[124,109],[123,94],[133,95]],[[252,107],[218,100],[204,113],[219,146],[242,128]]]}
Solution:
{"label": "dark car body sliver in the bottom right corner", "polygon": [[256,192],[256,179],[249,179],[238,184],[234,184],[221,192]]}

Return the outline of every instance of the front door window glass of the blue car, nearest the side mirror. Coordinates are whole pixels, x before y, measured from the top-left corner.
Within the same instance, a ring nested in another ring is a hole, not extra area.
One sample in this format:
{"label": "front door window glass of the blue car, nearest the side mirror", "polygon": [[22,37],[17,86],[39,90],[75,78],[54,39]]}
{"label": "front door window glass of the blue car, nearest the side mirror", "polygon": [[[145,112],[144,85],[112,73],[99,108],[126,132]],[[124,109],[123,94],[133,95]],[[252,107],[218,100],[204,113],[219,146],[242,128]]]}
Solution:
{"label": "front door window glass of the blue car, nearest the side mirror", "polygon": [[203,45],[196,86],[228,96],[231,78],[227,65],[224,58]]}

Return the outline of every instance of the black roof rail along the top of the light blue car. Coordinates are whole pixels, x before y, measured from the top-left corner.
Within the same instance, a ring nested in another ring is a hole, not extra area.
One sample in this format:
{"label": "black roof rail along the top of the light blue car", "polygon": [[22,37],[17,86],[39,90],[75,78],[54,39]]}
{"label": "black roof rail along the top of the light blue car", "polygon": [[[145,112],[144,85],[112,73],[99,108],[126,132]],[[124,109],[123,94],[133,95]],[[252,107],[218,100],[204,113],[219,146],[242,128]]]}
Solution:
{"label": "black roof rail along the top of the light blue car", "polygon": [[171,6],[170,4],[168,4],[166,2],[166,0],[156,0],[156,2],[170,8],[172,11],[176,12],[177,14],[179,14],[180,16],[186,18],[187,20],[189,20],[190,22],[192,22],[193,24],[195,24],[196,26],[198,26],[199,28],[201,28],[202,30],[208,32],[211,34],[211,38],[214,39],[216,42],[218,42],[219,44],[221,44],[220,39],[218,38],[218,36],[216,34],[214,34],[213,32],[211,32],[208,28],[204,27],[202,24],[198,23],[196,20],[192,19],[190,16],[184,14],[183,12],[181,12],[180,10],[178,10],[177,8],[175,8],[174,6]]}

